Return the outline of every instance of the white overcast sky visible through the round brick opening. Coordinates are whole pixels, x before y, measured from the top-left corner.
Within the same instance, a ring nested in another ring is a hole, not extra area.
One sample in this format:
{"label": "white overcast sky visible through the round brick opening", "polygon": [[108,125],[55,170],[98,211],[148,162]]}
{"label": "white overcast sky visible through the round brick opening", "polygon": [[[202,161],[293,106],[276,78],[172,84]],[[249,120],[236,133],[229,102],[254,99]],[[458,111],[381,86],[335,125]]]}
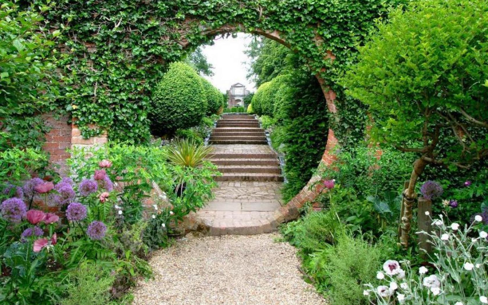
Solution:
{"label": "white overcast sky visible through the round brick opening", "polygon": [[238,33],[237,38],[218,37],[214,40],[214,45],[202,47],[207,61],[214,66],[215,74],[205,78],[223,93],[236,82],[244,84],[247,90],[256,91],[254,82],[247,81],[245,78],[247,71],[244,62],[249,62],[249,60],[244,54],[244,50],[251,40],[251,35]]}

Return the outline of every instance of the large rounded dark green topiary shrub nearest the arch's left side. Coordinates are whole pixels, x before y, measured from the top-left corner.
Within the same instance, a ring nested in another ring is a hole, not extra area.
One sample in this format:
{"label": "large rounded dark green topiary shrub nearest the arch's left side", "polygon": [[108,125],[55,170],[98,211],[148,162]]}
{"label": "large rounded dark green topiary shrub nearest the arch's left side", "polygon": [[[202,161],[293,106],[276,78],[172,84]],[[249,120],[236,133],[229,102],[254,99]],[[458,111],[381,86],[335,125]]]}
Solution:
{"label": "large rounded dark green topiary shrub nearest the arch's left side", "polygon": [[183,62],[169,66],[151,102],[150,119],[156,134],[173,133],[200,123],[207,109],[201,77]]}

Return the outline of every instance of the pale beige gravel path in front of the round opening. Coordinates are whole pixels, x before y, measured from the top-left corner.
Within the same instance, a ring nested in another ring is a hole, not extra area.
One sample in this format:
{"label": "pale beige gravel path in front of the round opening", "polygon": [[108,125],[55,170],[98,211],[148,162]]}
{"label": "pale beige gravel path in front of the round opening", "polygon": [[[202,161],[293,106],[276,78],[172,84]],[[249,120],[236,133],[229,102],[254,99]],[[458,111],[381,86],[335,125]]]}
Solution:
{"label": "pale beige gravel path in front of the round opening", "polygon": [[320,305],[302,279],[296,249],[278,234],[179,241],[150,260],[155,279],[141,282],[134,305]]}

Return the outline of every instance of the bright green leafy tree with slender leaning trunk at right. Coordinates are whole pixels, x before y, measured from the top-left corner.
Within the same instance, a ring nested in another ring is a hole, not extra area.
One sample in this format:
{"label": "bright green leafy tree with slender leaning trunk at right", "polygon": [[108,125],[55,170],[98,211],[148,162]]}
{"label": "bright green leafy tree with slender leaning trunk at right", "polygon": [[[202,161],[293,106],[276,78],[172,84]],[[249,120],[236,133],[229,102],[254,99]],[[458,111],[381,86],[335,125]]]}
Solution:
{"label": "bright green leafy tree with slender leaning trunk at right", "polygon": [[428,164],[469,168],[488,156],[488,2],[416,1],[395,9],[344,78],[369,106],[374,141],[414,152],[401,242]]}

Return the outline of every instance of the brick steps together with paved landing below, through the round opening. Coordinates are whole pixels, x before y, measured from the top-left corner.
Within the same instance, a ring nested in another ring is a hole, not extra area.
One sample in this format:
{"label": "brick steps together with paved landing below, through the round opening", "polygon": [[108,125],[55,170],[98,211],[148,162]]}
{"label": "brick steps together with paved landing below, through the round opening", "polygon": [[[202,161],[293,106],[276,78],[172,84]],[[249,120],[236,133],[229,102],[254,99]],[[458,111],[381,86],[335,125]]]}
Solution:
{"label": "brick steps together with paved landing below, through the round opening", "polygon": [[278,156],[268,146],[258,120],[249,115],[223,115],[210,136],[210,161],[217,177],[215,199],[198,211],[210,235],[260,234],[274,229],[283,176]]}

